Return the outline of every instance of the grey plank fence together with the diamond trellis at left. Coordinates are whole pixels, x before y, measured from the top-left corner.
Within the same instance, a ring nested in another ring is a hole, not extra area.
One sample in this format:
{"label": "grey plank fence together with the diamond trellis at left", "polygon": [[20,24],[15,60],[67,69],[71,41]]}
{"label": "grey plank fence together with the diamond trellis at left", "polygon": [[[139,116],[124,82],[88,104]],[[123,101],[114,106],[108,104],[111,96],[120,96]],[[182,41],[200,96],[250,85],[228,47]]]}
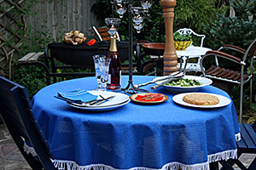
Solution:
{"label": "grey plank fence together with the diamond trellis at left", "polygon": [[[31,0],[0,0],[0,75],[11,76],[14,58],[22,57],[22,43],[33,43],[27,41],[28,33],[30,37],[44,39],[47,36],[53,41],[71,30],[91,36],[93,31],[89,32],[89,28],[99,26],[101,21],[96,20],[90,9],[99,1],[37,0],[31,3]],[[32,8],[26,14],[26,8],[31,4]]]}

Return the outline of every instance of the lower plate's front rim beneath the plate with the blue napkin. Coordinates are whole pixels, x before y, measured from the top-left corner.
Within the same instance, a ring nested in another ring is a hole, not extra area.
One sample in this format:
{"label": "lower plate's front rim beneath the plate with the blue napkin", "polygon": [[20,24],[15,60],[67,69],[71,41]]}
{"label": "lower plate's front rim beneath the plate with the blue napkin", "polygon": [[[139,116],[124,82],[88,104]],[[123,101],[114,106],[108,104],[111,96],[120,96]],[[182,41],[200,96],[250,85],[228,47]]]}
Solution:
{"label": "lower plate's front rim beneath the plate with the blue napkin", "polygon": [[68,105],[71,105],[74,108],[78,108],[84,111],[111,111],[114,109],[117,109],[123,105],[128,104],[131,101],[131,99],[125,100],[123,103],[119,103],[118,105],[107,105],[107,106],[94,106],[94,107],[88,107],[88,106],[81,106],[81,105],[76,105],[74,103],[68,103]]}

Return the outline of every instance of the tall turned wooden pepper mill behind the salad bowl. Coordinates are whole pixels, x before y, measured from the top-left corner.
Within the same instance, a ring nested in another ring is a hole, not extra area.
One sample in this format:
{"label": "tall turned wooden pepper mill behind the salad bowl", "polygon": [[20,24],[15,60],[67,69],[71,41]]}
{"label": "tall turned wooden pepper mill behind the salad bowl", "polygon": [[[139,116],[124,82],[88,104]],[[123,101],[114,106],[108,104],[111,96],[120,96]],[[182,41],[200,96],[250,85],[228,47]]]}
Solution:
{"label": "tall turned wooden pepper mill behind the salad bowl", "polygon": [[177,71],[177,54],[173,42],[173,19],[176,0],[160,0],[166,25],[166,48],[164,53],[164,75]]}

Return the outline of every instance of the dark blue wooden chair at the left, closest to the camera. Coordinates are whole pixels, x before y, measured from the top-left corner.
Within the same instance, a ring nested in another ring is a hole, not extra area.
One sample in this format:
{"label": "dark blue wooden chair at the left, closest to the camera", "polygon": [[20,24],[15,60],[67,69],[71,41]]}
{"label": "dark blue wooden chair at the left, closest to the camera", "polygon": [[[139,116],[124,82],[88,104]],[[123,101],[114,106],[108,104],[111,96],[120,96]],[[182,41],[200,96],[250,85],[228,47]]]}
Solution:
{"label": "dark blue wooden chair at the left, closest to the camera", "polygon": [[[0,113],[21,154],[32,169],[56,169],[51,162],[47,140],[35,120],[26,88],[0,77]],[[36,156],[26,153],[25,141],[32,144]]]}

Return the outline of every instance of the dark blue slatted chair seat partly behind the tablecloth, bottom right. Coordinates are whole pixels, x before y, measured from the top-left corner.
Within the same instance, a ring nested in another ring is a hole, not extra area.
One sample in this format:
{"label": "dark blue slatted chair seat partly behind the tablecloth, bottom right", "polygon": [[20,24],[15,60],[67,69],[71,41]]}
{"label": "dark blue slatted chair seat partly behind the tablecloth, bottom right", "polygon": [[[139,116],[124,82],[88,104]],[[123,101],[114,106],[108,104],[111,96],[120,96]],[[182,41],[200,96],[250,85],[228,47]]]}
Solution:
{"label": "dark blue slatted chair seat partly behind the tablecloth, bottom right", "polygon": [[232,166],[236,164],[241,170],[255,170],[256,169],[256,121],[253,125],[247,123],[239,124],[241,140],[237,142],[237,157],[242,154],[254,154],[254,160],[249,167],[245,167],[239,159],[229,161],[219,161],[223,166],[222,170],[235,170]]}

